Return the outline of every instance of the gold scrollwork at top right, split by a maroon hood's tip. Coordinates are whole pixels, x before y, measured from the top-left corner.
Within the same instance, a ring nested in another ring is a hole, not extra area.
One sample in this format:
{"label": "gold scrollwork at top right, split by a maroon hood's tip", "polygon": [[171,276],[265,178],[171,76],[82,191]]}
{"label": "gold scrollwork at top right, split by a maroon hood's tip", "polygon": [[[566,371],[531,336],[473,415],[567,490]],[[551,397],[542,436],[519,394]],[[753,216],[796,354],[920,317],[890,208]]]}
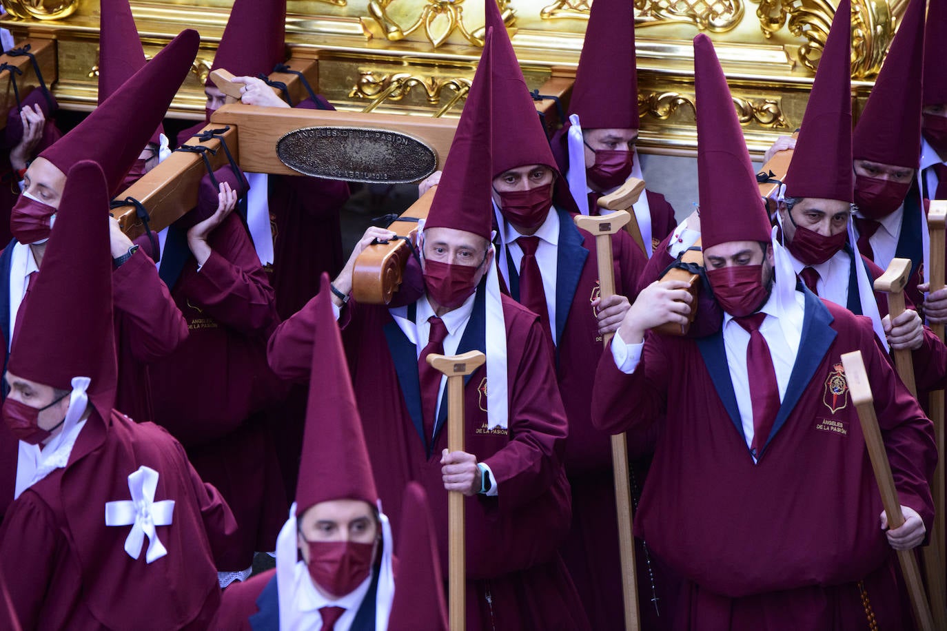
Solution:
{"label": "gold scrollwork at top right, split by a maroon hood's tip", "polygon": [[[805,38],[798,61],[815,72],[829,37],[835,8],[828,0],[760,0],[757,17],[763,35],[770,38],[783,26]],[[851,77],[876,74],[894,36],[892,12],[885,0],[854,0],[851,4]]]}

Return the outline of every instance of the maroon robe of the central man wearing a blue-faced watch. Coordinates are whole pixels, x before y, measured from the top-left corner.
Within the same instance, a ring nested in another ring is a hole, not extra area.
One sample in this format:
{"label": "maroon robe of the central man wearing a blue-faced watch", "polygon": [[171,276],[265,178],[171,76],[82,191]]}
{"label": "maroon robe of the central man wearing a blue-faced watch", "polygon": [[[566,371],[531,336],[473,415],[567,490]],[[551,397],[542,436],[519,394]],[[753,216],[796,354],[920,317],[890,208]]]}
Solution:
{"label": "maroon robe of the central man wearing a blue-faced watch", "polygon": [[[483,289],[478,289],[458,352],[483,343],[474,342],[477,328],[483,326],[482,294]],[[270,340],[270,364],[280,377],[308,378],[314,307],[311,301],[280,324]],[[487,429],[484,367],[465,386],[465,450],[490,465],[498,489],[497,497],[475,496],[465,502],[467,628],[587,628],[581,602],[556,552],[570,518],[569,487],[561,460],[567,428],[548,344],[535,314],[506,296],[503,307],[509,353],[509,429]],[[440,453],[447,447],[446,405],[441,407],[428,455],[419,429],[415,345],[407,341],[385,307],[349,303],[342,324],[384,512],[394,523],[402,523],[405,484],[417,481],[424,486],[446,575],[447,492],[440,473]],[[479,330],[482,335],[483,329]],[[413,395],[405,397],[402,387]]]}

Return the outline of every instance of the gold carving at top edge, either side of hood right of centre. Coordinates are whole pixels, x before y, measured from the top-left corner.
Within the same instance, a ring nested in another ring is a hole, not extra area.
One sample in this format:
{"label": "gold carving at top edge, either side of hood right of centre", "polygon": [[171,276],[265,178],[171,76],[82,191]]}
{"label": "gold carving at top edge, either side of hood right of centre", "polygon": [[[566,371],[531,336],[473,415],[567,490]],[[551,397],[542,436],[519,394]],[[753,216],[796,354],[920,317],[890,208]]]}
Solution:
{"label": "gold carving at top edge, either side of hood right of centre", "polygon": [[[587,20],[593,0],[557,0],[540,10],[544,20],[579,18]],[[636,28],[685,23],[700,30],[723,33],[743,17],[742,0],[634,0],[638,11]]]}

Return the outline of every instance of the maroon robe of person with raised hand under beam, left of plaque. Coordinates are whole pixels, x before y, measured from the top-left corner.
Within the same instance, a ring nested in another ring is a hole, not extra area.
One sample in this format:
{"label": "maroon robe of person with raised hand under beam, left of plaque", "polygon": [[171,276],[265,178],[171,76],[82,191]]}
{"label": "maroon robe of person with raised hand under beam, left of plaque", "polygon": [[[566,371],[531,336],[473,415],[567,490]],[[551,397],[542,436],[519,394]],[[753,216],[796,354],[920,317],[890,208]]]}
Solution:
{"label": "maroon robe of person with raised hand under beam, left of plaque", "polygon": [[[186,218],[187,219],[187,216]],[[240,526],[220,570],[245,570],[253,553],[275,549],[287,502],[261,413],[277,395],[266,339],[277,324],[273,289],[240,218],[208,239],[200,272],[188,254],[171,296],[188,340],[152,365],[156,422],[188,449],[194,468],[218,486]]]}

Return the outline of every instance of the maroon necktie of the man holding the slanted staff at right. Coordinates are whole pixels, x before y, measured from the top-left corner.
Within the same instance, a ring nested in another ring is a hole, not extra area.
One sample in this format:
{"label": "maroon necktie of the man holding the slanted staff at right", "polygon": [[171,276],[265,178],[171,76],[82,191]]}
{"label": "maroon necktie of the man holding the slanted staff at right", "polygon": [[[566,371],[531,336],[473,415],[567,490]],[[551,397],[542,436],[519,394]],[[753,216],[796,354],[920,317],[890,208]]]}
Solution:
{"label": "maroon necktie of the man holding the slanted staff at right", "polygon": [[750,399],[753,402],[753,441],[750,443],[750,450],[757,458],[766,445],[766,439],[769,438],[779,412],[776,369],[773,367],[769,344],[759,332],[759,326],[765,318],[765,313],[734,318],[750,333],[750,343],[746,345],[746,368],[750,377]]}

